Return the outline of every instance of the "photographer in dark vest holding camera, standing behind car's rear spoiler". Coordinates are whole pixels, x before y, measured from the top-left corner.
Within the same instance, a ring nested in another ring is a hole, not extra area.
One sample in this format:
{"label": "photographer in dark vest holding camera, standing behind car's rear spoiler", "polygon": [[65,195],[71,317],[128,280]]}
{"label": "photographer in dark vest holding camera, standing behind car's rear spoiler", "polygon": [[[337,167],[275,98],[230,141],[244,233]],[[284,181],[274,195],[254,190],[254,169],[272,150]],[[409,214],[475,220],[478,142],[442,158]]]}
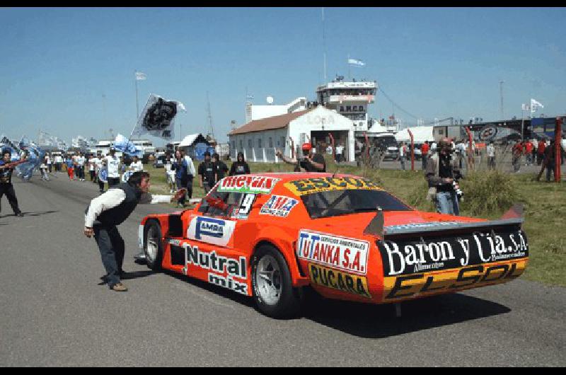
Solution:
{"label": "photographer in dark vest holding camera, standing behind car's rear spoiler", "polygon": [[427,163],[427,181],[429,184],[428,200],[434,200],[440,214],[460,214],[458,199],[463,192],[458,185],[462,178],[458,163],[452,158],[452,145],[449,138],[443,138],[437,152],[429,157]]}

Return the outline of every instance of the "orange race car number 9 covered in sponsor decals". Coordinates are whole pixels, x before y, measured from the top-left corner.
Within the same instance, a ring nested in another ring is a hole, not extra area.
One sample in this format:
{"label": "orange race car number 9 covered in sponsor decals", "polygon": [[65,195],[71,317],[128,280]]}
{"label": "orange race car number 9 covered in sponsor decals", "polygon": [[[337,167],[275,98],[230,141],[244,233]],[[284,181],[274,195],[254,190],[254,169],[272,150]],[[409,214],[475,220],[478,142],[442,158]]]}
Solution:
{"label": "orange race car number 9 covered in sponsor decals", "polygon": [[194,209],[145,217],[139,245],[173,270],[251,296],[267,316],[294,316],[301,288],[383,304],[507,282],[529,245],[511,209],[486,221],[412,209],[354,175],[223,178]]}

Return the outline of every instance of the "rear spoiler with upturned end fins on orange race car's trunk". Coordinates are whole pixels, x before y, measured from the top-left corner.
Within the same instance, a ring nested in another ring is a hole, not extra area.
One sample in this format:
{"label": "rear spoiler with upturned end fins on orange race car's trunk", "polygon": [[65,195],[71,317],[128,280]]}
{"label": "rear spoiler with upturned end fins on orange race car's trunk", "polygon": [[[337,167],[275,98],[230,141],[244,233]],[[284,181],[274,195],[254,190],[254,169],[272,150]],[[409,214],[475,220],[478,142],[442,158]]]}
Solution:
{"label": "rear spoiler with upturned end fins on orange race car's trunk", "polygon": [[373,234],[374,236],[400,236],[415,234],[425,234],[434,232],[452,232],[452,231],[467,231],[468,229],[480,229],[501,226],[521,226],[524,222],[523,206],[515,204],[509,211],[507,211],[501,219],[489,221],[475,221],[470,223],[462,223],[458,221],[436,221],[428,223],[415,223],[403,224],[394,226],[383,226],[383,211],[378,208],[376,216],[371,219],[364,234]]}

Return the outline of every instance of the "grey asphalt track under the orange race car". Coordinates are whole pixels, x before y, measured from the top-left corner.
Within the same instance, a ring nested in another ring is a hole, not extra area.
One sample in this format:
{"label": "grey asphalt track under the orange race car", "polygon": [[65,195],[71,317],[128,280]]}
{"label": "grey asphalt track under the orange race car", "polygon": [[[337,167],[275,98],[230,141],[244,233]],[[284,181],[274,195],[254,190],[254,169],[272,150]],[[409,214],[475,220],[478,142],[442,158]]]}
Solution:
{"label": "grey asphalt track under the orange race car", "polygon": [[[564,366],[566,289],[516,279],[394,308],[309,299],[276,321],[226,289],[133,262],[140,205],[120,232],[125,293],[83,236],[92,183],[15,183],[0,213],[0,366]],[[533,236],[533,234],[531,234]]]}

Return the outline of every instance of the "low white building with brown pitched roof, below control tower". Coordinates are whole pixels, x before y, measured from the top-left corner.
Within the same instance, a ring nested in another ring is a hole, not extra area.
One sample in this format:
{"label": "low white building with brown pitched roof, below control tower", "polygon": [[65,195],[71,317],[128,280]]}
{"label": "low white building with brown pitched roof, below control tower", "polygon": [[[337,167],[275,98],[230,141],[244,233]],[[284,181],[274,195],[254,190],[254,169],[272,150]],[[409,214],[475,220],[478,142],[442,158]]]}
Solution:
{"label": "low white building with brown pitched roof, below control tower", "polygon": [[230,157],[236,160],[238,152],[243,152],[247,161],[265,163],[279,162],[275,150],[280,149],[285,156],[294,156],[294,149],[301,144],[311,143],[316,152],[325,152],[331,143],[342,144],[346,161],[354,160],[354,123],[349,118],[319,105],[310,110],[301,110],[284,115],[252,120],[246,125],[229,132]]}

